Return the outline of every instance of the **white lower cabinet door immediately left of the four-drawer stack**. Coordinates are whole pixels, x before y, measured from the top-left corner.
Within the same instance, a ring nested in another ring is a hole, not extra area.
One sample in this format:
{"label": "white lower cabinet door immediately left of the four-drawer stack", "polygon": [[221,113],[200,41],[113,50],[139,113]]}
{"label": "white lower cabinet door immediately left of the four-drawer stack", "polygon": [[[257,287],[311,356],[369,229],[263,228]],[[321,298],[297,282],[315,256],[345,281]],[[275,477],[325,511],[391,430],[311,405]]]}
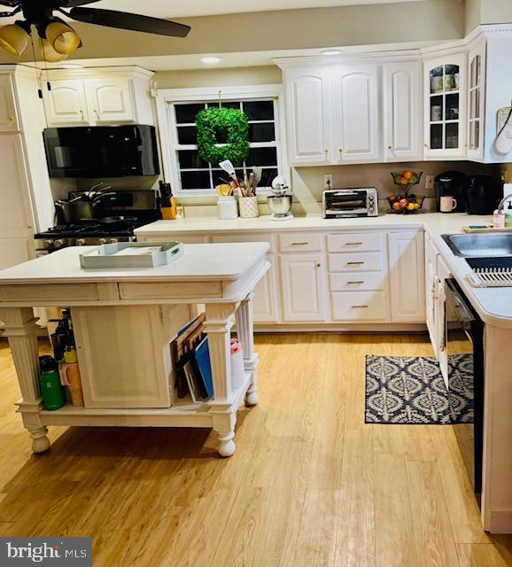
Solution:
{"label": "white lower cabinet door immediately left of the four-drawer stack", "polygon": [[283,320],[325,321],[325,277],[320,254],[280,257]]}

